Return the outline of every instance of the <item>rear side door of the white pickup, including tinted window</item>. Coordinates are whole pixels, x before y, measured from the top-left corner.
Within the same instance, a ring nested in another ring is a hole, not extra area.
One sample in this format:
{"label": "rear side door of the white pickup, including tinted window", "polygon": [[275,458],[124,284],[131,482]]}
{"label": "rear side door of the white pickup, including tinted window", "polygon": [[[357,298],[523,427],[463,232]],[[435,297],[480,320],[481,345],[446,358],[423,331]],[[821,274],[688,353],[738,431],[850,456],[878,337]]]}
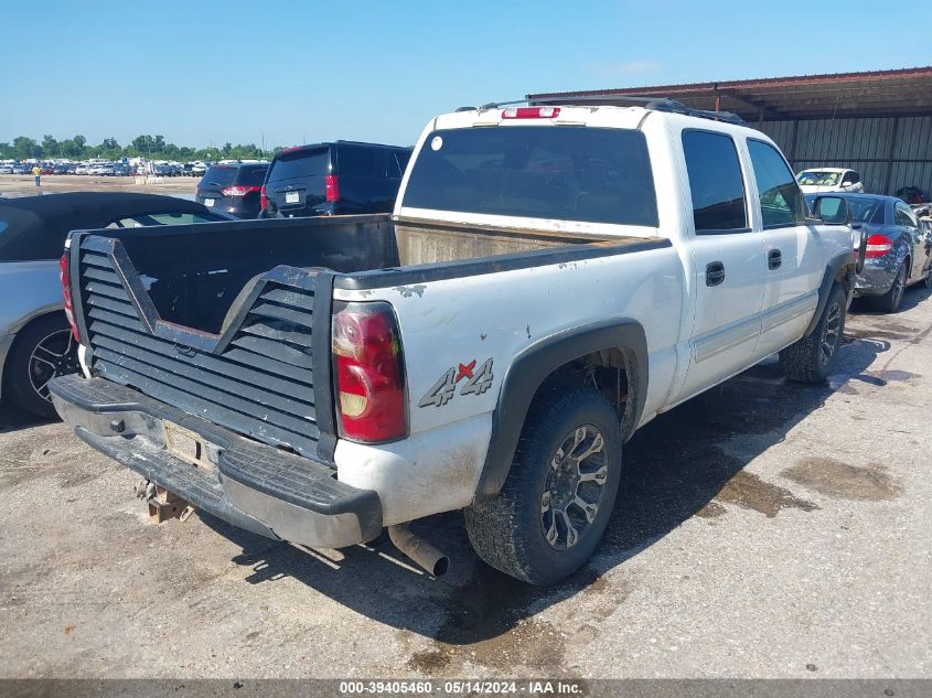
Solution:
{"label": "rear side door of the white pickup, including tinted window", "polygon": [[760,333],[765,268],[763,236],[751,229],[733,139],[685,129],[682,142],[693,205],[696,312],[693,362],[681,399],[751,363]]}

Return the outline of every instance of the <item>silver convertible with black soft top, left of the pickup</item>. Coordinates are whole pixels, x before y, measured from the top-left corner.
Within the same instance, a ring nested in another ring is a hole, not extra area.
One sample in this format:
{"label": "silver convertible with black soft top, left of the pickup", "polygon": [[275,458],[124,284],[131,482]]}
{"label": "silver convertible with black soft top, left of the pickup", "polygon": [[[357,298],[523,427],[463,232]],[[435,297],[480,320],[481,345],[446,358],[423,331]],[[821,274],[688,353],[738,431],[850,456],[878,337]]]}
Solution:
{"label": "silver convertible with black soft top, left of the pickup", "polygon": [[46,384],[77,369],[58,258],[68,230],[231,221],[173,196],[67,193],[0,203],[0,387],[4,400],[54,415]]}

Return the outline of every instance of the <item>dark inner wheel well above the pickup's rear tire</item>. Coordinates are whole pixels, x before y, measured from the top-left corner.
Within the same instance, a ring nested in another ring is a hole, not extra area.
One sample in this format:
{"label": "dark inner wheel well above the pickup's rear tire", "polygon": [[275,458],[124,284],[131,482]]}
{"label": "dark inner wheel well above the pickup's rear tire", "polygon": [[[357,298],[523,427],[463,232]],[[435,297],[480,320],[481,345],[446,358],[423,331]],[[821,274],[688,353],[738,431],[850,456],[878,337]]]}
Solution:
{"label": "dark inner wheel well above the pickup's rear tire", "polygon": [[591,385],[614,407],[621,422],[621,432],[628,439],[638,426],[633,423],[636,372],[638,362],[630,350],[612,347],[591,352],[555,368],[537,388],[534,399],[537,399],[542,388],[555,382]]}

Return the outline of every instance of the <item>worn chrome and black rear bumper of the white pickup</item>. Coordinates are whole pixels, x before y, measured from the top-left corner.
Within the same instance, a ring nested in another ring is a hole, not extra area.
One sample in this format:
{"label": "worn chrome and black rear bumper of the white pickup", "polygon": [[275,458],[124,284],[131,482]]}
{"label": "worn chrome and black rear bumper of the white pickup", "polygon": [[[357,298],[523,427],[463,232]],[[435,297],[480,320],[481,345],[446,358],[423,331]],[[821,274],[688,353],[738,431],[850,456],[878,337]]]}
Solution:
{"label": "worn chrome and black rear bumper of the white pickup", "polygon": [[[318,548],[382,531],[378,495],[338,481],[323,462],[256,443],[103,378],[64,376],[50,390],[62,419],[88,444],[234,526]],[[165,423],[203,439],[206,468],[167,450]]]}

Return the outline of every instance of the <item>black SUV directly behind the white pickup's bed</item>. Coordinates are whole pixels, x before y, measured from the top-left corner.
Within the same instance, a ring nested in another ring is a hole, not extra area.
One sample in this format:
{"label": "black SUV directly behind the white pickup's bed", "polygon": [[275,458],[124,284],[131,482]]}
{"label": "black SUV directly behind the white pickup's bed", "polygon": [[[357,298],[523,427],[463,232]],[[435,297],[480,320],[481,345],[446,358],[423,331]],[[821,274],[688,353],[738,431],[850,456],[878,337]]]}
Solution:
{"label": "black SUV directly behind the white pickup's bed", "polygon": [[386,213],[395,206],[410,148],[339,140],[275,157],[260,217]]}

